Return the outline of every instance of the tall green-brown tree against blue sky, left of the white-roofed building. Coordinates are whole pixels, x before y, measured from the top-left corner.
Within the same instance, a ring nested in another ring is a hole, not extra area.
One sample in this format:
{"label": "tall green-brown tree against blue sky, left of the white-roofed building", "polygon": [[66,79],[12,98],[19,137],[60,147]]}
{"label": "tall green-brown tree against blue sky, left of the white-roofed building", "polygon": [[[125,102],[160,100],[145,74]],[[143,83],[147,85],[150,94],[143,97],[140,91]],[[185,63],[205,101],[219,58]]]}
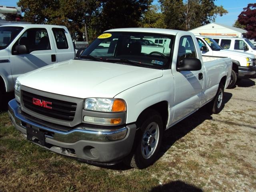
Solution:
{"label": "tall green-brown tree against blue sky, left of the white-roofed building", "polygon": [[217,15],[228,13],[215,0],[160,0],[168,28],[190,30],[213,22]]}

